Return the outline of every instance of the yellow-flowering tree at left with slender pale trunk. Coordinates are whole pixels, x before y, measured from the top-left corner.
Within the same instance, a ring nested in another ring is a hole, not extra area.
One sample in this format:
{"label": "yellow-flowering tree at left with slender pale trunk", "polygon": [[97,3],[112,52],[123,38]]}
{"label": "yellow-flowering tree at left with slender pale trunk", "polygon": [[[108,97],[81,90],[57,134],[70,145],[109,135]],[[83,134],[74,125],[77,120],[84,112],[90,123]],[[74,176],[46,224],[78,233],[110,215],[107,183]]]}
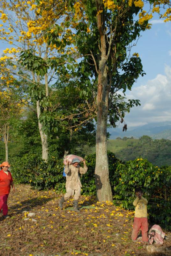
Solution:
{"label": "yellow-flowering tree at left with slender pale trunk", "polygon": [[[9,44],[4,49],[6,55],[1,57],[1,71],[9,74],[11,79],[17,75],[34,85],[31,94],[37,109],[42,159],[45,161],[48,160],[48,135],[40,122],[40,116],[48,111],[49,85],[55,83],[60,76],[56,75],[57,67],[64,68],[74,53],[74,49],[69,47],[71,30],[65,29],[65,12],[67,8],[62,0],[57,3],[54,0],[0,1],[0,40]],[[50,35],[54,30],[58,40],[56,44],[48,44],[44,31]],[[66,45],[67,50],[64,52]],[[13,68],[16,68],[15,72],[4,68],[6,61],[10,61]],[[19,72],[16,61],[24,66],[25,72]]]}

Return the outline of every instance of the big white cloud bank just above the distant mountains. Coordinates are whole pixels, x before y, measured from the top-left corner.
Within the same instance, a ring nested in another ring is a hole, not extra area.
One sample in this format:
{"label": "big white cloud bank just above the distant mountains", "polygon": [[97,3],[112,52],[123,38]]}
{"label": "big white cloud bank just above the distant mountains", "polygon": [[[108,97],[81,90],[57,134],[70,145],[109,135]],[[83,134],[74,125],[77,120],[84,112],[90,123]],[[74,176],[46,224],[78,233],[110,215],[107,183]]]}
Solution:
{"label": "big white cloud bank just above the distant mountains", "polygon": [[129,127],[154,122],[170,121],[171,116],[171,67],[165,66],[165,75],[158,74],[145,85],[139,85],[126,95],[128,99],[140,100],[125,116]]}

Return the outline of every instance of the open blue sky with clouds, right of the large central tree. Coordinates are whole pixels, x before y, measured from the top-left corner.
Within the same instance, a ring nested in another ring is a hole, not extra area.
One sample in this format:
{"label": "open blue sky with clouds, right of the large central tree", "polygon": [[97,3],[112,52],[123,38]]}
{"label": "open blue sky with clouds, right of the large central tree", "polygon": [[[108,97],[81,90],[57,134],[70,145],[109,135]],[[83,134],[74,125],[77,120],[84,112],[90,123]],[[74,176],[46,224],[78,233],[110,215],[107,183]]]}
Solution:
{"label": "open blue sky with clouds, right of the large central tree", "polygon": [[133,50],[139,53],[146,75],[126,92],[128,99],[141,101],[140,107],[132,108],[125,116],[130,130],[154,122],[171,122],[171,23],[158,17],[150,23],[152,28],[142,33]]}

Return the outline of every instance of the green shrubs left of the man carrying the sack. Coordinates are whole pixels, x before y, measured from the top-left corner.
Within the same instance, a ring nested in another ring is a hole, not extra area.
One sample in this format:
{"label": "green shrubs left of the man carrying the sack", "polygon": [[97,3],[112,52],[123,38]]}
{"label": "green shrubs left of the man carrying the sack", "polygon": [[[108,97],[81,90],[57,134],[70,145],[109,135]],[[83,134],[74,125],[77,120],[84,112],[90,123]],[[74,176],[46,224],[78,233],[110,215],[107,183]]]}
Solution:
{"label": "green shrubs left of the man carrying the sack", "polygon": [[15,183],[30,183],[35,189],[55,188],[63,191],[65,187],[63,161],[55,156],[50,156],[48,163],[33,154],[15,157],[11,160],[11,173]]}

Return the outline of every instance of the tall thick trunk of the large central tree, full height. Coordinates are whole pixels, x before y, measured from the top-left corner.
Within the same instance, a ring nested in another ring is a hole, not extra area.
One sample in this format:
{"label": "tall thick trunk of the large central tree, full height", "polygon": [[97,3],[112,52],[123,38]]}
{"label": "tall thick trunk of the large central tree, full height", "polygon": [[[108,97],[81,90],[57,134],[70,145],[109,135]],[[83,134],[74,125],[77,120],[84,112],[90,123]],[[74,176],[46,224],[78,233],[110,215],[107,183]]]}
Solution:
{"label": "tall thick trunk of the large central tree, full height", "polygon": [[[100,10],[97,2],[97,10]],[[104,22],[101,13],[97,15],[97,27],[100,35],[101,59],[98,69],[97,87],[97,131],[96,131],[96,167],[95,181],[98,201],[112,201],[112,189],[109,181],[109,167],[107,155],[107,121],[108,121],[108,72],[106,67],[106,40]]]}

